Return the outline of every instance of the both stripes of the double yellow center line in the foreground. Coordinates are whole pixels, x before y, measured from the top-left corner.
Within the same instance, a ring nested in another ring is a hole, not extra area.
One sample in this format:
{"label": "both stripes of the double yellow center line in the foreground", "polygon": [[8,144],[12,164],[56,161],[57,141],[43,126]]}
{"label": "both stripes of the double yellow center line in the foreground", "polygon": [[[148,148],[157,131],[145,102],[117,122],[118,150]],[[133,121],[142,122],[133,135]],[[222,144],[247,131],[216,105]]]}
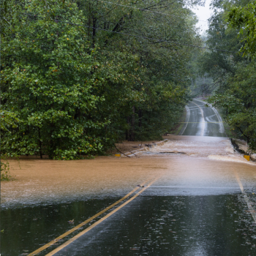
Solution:
{"label": "both stripes of the double yellow center line in the foreground", "polygon": [[[122,207],[126,206],[127,203],[131,202],[132,200],[134,200],[136,197],[138,197],[138,195],[140,195],[145,189],[147,189],[148,187],[151,186],[151,184],[154,183],[154,181],[157,181],[157,179],[159,178],[159,176],[157,178],[154,178],[153,181],[151,181],[147,187],[144,187],[143,189],[141,189],[136,195],[134,195],[132,198],[130,198],[129,200],[127,200],[125,203],[123,203],[121,206],[118,206],[118,208],[116,208],[115,210],[111,211],[109,214],[107,214],[105,217],[103,217],[102,219],[99,219],[97,222],[95,222],[93,225],[91,225],[90,227],[87,227],[85,230],[83,230],[82,232],[78,233],[78,235],[74,236],[73,238],[69,239],[67,242],[65,242],[64,244],[62,244],[61,246],[59,246],[58,248],[54,249],[52,252],[48,253],[48,255],[45,256],[50,256],[50,255],[54,255],[56,252],[59,252],[61,249],[63,249],[65,246],[67,246],[68,244],[71,244],[73,241],[75,241],[76,239],[78,239],[80,236],[83,236],[83,234],[87,233],[89,230],[91,230],[93,227],[99,225],[100,222],[102,222],[103,220],[107,219],[108,217],[110,217],[112,214],[116,213],[116,211],[118,211],[119,209],[121,209]],[[146,184],[146,182],[148,182],[148,180],[151,178],[148,178],[146,181],[144,181],[141,186],[143,186],[144,184]],[[78,230],[78,228],[83,227],[84,225],[86,225],[87,223],[91,222],[91,220],[99,217],[99,215],[104,214],[106,211],[110,210],[110,208],[113,208],[114,206],[116,206],[118,203],[121,203],[121,201],[127,199],[127,197],[129,197],[129,195],[132,195],[136,190],[138,190],[139,187],[136,187],[135,189],[133,189],[131,192],[129,192],[127,195],[125,195],[123,198],[121,198],[120,200],[116,201],[116,203],[113,203],[111,206],[108,206],[107,208],[105,208],[102,211],[99,211],[99,213],[95,214],[93,217],[86,219],[85,222],[80,223],[79,225],[77,225],[76,227],[73,227],[71,230],[68,230],[66,233],[62,234],[61,236],[55,238],[53,241],[50,241],[48,244],[45,244],[44,246],[40,247],[39,249],[35,250],[34,252],[31,252],[28,256],[32,256],[32,255],[37,255],[39,252],[42,252],[43,250],[47,249],[48,247],[50,247],[51,245],[55,244],[57,241],[59,241],[60,239],[68,236],[69,234],[73,233],[75,230]]]}

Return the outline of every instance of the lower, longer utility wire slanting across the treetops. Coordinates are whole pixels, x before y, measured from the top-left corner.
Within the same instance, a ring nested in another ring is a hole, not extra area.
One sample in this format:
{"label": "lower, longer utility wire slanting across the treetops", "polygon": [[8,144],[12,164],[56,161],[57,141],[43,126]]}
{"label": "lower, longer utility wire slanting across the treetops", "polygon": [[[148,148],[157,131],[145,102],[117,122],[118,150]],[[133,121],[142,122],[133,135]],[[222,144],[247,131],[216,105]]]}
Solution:
{"label": "lower, longer utility wire slanting across the treetops", "polygon": [[[22,12],[20,12],[20,13],[22,13]],[[29,13],[22,13],[22,14],[24,14],[24,15],[29,15],[29,16],[33,16],[33,17],[38,17],[38,18],[44,18],[44,19],[45,19],[45,17],[38,16],[38,15],[31,15],[31,14],[29,14]],[[138,35],[135,35],[135,34],[127,34],[127,33],[122,33],[122,32],[118,32],[118,31],[111,31],[111,30],[108,30],[108,29],[100,29],[100,28],[95,28],[95,27],[93,27],[93,26],[85,26],[85,25],[81,25],[81,24],[70,23],[70,22],[67,22],[67,21],[61,21],[61,20],[56,20],[56,19],[50,19],[50,20],[58,21],[58,22],[60,22],[60,23],[66,23],[66,24],[69,24],[69,25],[83,26],[83,27],[86,27],[86,28],[89,28],[89,29],[97,29],[97,30],[101,30],[101,31],[108,31],[108,32],[110,32],[110,33],[115,33],[115,34],[124,34],[124,35],[129,36],[129,37],[138,37],[138,38],[143,38],[143,39],[155,40],[156,42],[154,42],[154,43],[170,42],[170,43],[173,43],[174,45],[186,45],[186,46],[194,47],[194,48],[201,48],[201,49],[207,49],[207,50],[219,50],[219,51],[227,52],[227,53],[237,53],[237,52],[231,51],[231,50],[221,50],[221,49],[208,48],[208,47],[197,46],[197,45],[189,45],[189,44],[183,43],[183,42],[174,42],[174,40],[170,40],[170,41],[161,41],[161,40],[159,40],[159,39],[152,38],[152,37],[143,37],[143,36],[138,36]]]}

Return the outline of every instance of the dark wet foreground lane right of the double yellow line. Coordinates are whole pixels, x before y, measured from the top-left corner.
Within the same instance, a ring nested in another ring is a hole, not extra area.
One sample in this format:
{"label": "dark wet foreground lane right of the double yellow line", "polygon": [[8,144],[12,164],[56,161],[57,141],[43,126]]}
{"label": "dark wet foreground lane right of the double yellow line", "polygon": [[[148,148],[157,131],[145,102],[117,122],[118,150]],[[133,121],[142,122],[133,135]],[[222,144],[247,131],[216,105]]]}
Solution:
{"label": "dark wet foreground lane right of the double yellow line", "polygon": [[256,233],[242,208],[234,195],[140,197],[55,255],[250,255]]}

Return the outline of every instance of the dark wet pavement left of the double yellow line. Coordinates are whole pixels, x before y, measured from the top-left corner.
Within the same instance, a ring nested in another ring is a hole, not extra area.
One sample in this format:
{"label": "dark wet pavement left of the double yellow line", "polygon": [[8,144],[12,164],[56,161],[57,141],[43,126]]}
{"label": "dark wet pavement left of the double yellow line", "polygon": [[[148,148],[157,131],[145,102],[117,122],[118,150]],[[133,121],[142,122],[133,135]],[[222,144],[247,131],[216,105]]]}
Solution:
{"label": "dark wet pavement left of the double yellow line", "polygon": [[6,208],[1,211],[1,255],[27,255],[118,199]]}

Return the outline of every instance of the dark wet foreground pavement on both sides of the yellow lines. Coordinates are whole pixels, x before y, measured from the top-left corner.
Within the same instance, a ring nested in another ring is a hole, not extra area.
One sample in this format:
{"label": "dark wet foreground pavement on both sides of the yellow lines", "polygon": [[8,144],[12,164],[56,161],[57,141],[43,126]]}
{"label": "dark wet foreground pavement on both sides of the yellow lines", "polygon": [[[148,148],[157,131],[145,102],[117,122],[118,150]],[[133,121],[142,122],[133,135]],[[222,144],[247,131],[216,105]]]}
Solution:
{"label": "dark wet foreground pavement on both sides of the yellow lines", "polygon": [[[75,218],[76,225],[93,214],[89,209],[99,211],[108,203],[112,202],[3,211],[2,221],[13,225],[4,225],[2,254],[27,255],[69,230],[73,225],[67,219]],[[255,244],[255,223],[241,195],[144,195],[55,255],[255,255]]]}

